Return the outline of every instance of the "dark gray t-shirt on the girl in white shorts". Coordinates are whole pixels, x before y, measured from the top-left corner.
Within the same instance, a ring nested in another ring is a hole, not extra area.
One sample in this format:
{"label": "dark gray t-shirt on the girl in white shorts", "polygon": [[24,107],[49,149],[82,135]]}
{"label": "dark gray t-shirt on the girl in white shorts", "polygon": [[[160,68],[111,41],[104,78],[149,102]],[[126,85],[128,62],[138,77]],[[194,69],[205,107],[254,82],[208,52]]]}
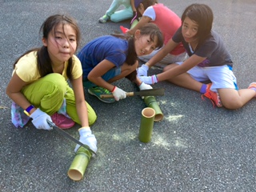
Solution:
{"label": "dark gray t-shirt on the girl in white shorts", "polygon": [[229,51],[226,50],[222,38],[214,30],[211,30],[210,37],[194,52],[190,50],[189,43],[182,36],[182,26],[176,31],[172,39],[177,43],[182,42],[189,56],[196,54],[206,58],[203,62],[198,63],[198,66],[233,66]]}

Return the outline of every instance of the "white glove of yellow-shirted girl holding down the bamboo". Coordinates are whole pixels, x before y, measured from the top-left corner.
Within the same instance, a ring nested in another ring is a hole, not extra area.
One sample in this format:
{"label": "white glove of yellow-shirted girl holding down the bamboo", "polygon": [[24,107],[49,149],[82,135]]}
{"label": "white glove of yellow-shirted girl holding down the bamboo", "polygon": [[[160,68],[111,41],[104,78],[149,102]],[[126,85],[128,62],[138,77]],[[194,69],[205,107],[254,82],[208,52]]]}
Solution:
{"label": "white glove of yellow-shirted girl holding down the bamboo", "polygon": [[[97,140],[95,135],[91,133],[90,127],[82,127],[79,130],[80,138],[79,142],[82,142],[86,146],[90,147],[90,150],[93,150],[95,153],[97,152]],[[76,145],[74,148],[74,152],[76,153],[79,149],[80,145]]]}

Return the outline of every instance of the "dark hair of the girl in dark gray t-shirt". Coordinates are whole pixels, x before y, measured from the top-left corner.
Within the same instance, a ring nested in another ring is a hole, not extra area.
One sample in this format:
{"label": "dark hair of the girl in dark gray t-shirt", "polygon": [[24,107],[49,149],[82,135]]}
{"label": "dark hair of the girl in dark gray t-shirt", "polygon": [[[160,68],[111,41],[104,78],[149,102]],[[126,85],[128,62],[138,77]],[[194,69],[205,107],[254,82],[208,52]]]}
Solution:
{"label": "dark hair of the girl in dark gray t-shirt", "polygon": [[186,17],[198,24],[198,33],[196,34],[196,37],[198,38],[197,47],[200,47],[210,35],[214,21],[213,11],[205,4],[194,3],[184,10],[182,14],[182,24]]}

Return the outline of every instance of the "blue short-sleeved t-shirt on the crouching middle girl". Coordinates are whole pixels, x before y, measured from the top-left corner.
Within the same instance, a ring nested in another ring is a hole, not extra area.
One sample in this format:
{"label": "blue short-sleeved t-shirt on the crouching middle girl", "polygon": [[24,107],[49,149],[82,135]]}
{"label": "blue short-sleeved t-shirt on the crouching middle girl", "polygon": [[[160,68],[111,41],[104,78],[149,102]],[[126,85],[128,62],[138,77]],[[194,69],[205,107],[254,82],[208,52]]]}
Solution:
{"label": "blue short-sleeved t-shirt on the crouching middle girl", "polygon": [[78,53],[82,63],[82,77],[87,78],[91,70],[104,59],[112,62],[115,66],[122,66],[126,61],[128,42],[122,38],[111,35],[95,38],[88,42]]}

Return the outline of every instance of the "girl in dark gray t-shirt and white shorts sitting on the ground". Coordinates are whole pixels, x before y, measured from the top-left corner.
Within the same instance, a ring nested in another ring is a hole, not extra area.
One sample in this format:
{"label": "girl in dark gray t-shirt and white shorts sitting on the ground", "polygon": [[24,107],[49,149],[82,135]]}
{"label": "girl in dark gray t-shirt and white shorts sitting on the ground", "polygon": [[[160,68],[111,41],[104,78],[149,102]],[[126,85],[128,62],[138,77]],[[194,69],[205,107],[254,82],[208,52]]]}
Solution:
{"label": "girl in dark gray t-shirt and white shorts sitting on the ground", "polygon": [[[167,80],[178,86],[196,90],[214,105],[236,110],[256,97],[256,82],[248,89],[238,90],[233,62],[222,38],[212,30],[213,12],[204,4],[192,4],[182,14],[182,26],[174,37],[146,64],[138,68],[138,77],[147,84]],[[147,76],[150,66],[160,61],[182,42],[189,58],[166,66],[163,73]],[[202,82],[209,81],[209,84]]]}

